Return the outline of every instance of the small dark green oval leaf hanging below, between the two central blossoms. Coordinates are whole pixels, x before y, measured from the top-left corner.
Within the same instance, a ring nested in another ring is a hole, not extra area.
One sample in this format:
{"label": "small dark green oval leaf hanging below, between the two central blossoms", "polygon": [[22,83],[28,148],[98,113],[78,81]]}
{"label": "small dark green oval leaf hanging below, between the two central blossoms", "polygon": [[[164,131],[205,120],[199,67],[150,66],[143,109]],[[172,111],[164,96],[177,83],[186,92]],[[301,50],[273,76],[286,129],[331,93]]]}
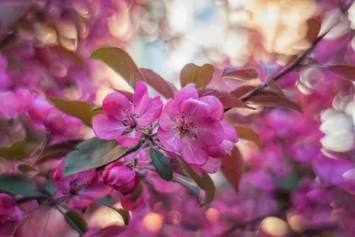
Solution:
{"label": "small dark green oval leaf hanging below, between the two central blossoms", "polygon": [[169,158],[153,148],[150,148],[149,154],[159,176],[164,180],[170,181],[172,178],[172,170]]}

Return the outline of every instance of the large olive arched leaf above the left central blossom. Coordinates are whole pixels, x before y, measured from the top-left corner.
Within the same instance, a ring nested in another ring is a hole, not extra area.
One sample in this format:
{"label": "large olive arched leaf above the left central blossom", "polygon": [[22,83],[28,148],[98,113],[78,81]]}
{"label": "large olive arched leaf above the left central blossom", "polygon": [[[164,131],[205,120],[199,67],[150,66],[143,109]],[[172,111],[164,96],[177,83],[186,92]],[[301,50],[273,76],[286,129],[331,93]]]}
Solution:
{"label": "large olive arched leaf above the left central blossom", "polygon": [[100,48],[94,51],[90,58],[105,62],[108,67],[122,75],[123,79],[133,88],[136,87],[136,82],[145,81],[130,55],[120,48]]}

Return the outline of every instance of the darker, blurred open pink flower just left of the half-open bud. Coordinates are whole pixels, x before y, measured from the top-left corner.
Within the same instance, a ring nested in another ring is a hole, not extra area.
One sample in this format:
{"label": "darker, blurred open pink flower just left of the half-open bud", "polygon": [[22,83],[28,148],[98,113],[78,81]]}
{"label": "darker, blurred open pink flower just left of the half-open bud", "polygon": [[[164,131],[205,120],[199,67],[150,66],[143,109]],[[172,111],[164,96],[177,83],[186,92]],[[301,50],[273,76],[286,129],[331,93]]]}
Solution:
{"label": "darker, blurred open pink flower just left of the half-open bud", "polygon": [[95,173],[95,169],[63,177],[64,164],[65,160],[62,159],[54,172],[53,179],[59,194],[70,197],[70,208],[83,209],[92,201],[98,200],[112,191],[109,186],[104,184],[99,173]]}

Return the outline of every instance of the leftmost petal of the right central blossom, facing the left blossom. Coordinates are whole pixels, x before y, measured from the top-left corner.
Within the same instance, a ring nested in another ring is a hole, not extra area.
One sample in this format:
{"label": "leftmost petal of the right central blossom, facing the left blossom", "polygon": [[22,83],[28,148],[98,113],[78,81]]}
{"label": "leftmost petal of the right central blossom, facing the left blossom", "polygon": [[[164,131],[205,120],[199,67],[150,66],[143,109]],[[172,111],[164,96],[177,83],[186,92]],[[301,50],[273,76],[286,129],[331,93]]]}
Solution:
{"label": "leftmost petal of the right central blossom, facing the left blossom", "polygon": [[171,130],[177,126],[178,109],[174,99],[169,99],[162,109],[162,115],[159,117],[159,127],[163,130]]}

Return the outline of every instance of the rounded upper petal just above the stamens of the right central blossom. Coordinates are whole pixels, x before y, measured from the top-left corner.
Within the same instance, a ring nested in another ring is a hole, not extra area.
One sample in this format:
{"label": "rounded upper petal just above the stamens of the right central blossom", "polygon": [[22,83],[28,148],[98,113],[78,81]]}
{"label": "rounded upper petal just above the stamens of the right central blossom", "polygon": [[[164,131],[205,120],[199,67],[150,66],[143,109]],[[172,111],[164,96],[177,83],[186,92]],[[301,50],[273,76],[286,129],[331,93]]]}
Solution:
{"label": "rounded upper petal just above the stamens of the right central blossom", "polygon": [[186,99],[181,104],[180,112],[185,122],[201,122],[209,117],[208,105],[197,99]]}

